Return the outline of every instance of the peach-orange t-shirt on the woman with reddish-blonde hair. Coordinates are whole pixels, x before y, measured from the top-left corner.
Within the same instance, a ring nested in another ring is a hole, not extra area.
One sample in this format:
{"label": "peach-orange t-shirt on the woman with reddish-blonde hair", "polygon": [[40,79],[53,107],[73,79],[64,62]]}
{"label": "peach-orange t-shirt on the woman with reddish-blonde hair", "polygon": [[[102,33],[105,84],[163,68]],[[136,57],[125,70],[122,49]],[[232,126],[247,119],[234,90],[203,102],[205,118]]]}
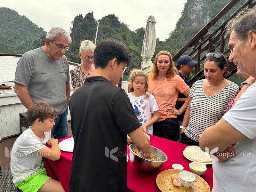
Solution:
{"label": "peach-orange t-shirt on the woman with reddish-blonde hair", "polygon": [[176,115],[168,113],[167,109],[171,108],[169,105],[175,106],[178,93],[185,92],[188,85],[176,75],[172,78],[161,81],[154,80],[151,74],[148,74],[148,92],[154,95],[156,103],[159,108],[160,118],[157,121],[163,121],[166,118],[177,118]]}

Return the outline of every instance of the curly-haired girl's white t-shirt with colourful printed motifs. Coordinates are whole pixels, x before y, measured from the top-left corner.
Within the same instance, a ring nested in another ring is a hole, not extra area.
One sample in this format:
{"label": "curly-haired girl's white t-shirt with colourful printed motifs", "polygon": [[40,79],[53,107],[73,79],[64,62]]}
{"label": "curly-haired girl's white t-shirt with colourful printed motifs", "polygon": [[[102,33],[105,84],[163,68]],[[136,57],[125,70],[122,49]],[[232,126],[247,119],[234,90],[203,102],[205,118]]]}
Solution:
{"label": "curly-haired girl's white t-shirt with colourful printed motifs", "polygon": [[[147,94],[149,95],[148,98],[146,98],[146,94],[140,97],[134,97],[131,92],[127,93],[134,109],[134,113],[140,121],[140,125],[143,125],[144,123],[149,121],[153,117],[154,111],[159,110],[155,97],[148,92]],[[153,135],[153,124],[149,125],[147,127],[147,130],[149,134]]]}

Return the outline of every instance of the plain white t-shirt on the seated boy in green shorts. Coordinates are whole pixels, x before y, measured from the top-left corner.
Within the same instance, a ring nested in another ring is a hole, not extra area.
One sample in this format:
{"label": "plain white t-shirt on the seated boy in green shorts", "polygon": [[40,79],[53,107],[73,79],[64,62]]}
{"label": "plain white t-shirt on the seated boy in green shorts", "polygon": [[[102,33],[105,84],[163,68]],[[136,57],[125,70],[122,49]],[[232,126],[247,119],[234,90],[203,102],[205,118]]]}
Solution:
{"label": "plain white t-shirt on the seated boy in green shorts", "polygon": [[25,130],[14,142],[11,156],[12,182],[19,183],[44,168],[42,156],[35,151],[42,149],[51,139],[51,131],[44,132],[40,139],[30,129]]}

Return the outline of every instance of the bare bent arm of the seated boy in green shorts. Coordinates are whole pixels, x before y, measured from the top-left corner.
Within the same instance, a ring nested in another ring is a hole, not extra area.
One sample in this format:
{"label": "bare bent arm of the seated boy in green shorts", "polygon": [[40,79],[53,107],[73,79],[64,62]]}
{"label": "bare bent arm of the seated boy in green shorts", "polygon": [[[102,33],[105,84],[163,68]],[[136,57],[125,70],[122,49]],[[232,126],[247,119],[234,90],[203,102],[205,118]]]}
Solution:
{"label": "bare bent arm of the seated boy in green shorts", "polygon": [[50,139],[47,142],[48,145],[52,145],[52,148],[44,147],[36,151],[40,156],[43,156],[52,161],[57,161],[60,159],[60,147],[57,139]]}

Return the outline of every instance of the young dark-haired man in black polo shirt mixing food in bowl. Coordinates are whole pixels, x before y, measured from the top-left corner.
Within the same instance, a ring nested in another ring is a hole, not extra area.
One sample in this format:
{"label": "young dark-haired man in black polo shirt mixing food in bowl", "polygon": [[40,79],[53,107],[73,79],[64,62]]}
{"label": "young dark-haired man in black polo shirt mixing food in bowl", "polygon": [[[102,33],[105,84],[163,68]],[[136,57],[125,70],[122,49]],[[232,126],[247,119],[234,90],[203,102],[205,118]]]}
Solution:
{"label": "young dark-haired man in black polo shirt mixing food in bowl", "polygon": [[117,40],[103,40],[94,50],[94,76],[70,98],[75,146],[70,192],[127,190],[127,134],[144,155],[151,154],[127,94],[115,86],[131,60]]}

